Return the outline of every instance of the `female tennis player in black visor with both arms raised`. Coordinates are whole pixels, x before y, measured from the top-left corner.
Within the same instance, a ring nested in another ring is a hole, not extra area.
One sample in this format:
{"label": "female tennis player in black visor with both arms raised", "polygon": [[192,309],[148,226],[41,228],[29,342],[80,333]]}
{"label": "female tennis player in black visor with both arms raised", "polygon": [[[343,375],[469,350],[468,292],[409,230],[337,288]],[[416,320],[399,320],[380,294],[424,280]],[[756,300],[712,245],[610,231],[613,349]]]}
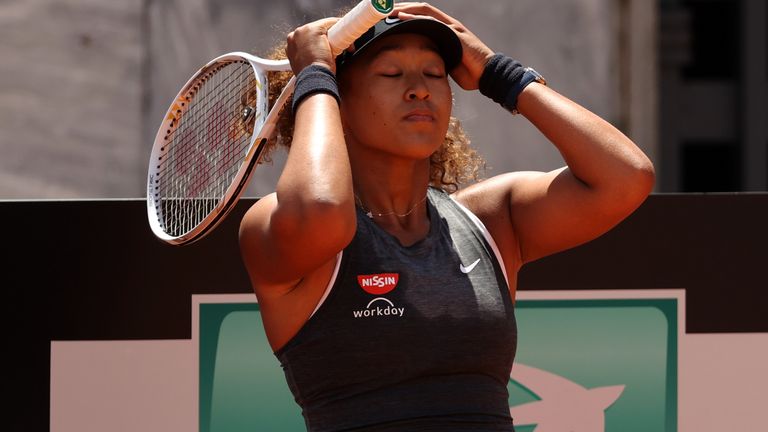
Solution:
{"label": "female tennis player in black visor with both arms raised", "polygon": [[[333,22],[288,36],[288,159],[240,232],[307,429],[512,431],[518,271],[627,217],[653,166],[429,4],[398,4],[336,60]],[[451,118],[449,77],[530,121],[567,166],[463,186],[481,161]]]}

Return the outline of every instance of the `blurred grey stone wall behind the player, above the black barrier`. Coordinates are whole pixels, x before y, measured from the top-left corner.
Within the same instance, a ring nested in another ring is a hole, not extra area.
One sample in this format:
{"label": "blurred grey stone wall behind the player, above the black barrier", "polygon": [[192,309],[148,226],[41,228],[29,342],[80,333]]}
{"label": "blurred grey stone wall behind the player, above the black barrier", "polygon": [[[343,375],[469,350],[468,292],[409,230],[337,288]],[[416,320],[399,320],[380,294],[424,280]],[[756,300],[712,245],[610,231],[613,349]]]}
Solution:
{"label": "blurred grey stone wall behind the player, above the black barrier", "polygon": [[[494,50],[622,124],[615,0],[436,0]],[[228,51],[264,53],[347,1],[0,2],[0,199],[144,196],[151,142],[179,86]],[[183,8],[181,6],[184,6]],[[486,176],[562,165],[524,118],[456,90],[455,114]],[[652,146],[653,143],[640,143]],[[282,158],[247,194],[272,190]]]}

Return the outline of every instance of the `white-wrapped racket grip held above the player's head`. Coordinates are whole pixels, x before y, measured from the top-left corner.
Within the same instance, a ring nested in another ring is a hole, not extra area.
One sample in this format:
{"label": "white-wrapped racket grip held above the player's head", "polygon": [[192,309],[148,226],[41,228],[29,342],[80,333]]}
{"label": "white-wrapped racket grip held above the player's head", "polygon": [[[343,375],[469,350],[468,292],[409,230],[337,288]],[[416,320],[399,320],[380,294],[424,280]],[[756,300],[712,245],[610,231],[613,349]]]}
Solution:
{"label": "white-wrapped racket grip held above the player's head", "polygon": [[328,29],[328,42],[333,56],[347,49],[352,42],[385,18],[394,7],[394,0],[362,0]]}

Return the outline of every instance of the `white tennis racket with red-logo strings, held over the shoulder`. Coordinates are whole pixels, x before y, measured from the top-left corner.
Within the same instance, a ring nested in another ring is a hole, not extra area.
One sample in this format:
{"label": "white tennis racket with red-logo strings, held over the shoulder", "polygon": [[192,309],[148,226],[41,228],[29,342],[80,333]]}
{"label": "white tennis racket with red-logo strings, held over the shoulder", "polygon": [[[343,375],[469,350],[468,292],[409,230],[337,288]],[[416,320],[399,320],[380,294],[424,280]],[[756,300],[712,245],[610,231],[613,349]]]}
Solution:
{"label": "white tennis racket with red-logo strings, held over the shoulder", "polygon": [[[339,55],[392,11],[393,0],[362,0],[328,30]],[[217,57],[179,91],[155,136],[147,175],[152,232],[173,245],[211,232],[234,207],[293,94],[292,77],[269,109],[267,72],[288,60],[243,52]]]}

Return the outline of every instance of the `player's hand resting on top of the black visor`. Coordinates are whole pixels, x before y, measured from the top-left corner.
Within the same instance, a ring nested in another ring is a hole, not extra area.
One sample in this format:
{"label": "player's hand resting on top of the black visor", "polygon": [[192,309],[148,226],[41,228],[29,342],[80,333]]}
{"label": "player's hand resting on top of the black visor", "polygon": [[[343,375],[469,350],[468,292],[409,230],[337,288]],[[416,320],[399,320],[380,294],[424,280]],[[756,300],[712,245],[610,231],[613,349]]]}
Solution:
{"label": "player's hand resting on top of the black visor", "polygon": [[464,90],[476,90],[479,87],[480,76],[494,52],[461,22],[440,9],[421,2],[396,3],[392,16],[397,16],[402,20],[430,17],[442,21],[452,28],[461,40],[463,54],[461,63],[449,73]]}

